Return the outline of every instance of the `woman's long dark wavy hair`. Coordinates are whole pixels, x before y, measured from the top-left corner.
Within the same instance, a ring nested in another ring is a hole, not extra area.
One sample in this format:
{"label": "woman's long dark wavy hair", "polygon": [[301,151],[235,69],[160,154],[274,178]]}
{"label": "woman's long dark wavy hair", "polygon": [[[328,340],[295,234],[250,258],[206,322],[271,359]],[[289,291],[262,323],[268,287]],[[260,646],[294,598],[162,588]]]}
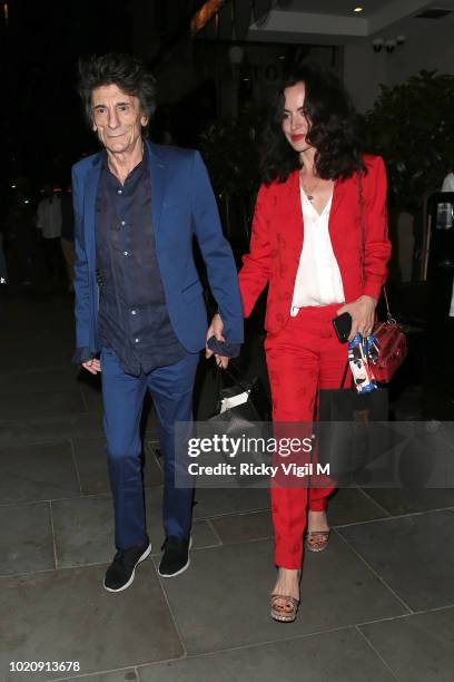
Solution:
{"label": "woman's long dark wavy hair", "polygon": [[260,168],[265,183],[285,182],[300,167],[299,154],[283,133],[284,90],[305,85],[304,110],[309,129],[307,142],[316,148],[315,168],[324,179],[352,176],[364,170],[361,142],[356,131],[356,111],[338,78],[314,66],[302,66],[280,84],[265,129]]}

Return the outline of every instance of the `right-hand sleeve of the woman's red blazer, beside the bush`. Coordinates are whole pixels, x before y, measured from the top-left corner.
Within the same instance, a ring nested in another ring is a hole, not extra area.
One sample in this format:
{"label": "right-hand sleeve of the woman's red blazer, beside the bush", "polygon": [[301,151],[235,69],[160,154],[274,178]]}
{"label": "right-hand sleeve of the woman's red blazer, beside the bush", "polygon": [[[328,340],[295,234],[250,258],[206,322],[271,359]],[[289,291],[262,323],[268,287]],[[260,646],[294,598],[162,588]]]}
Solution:
{"label": "right-hand sleeve of the woman's red blazer, beside the bush", "polygon": [[387,277],[391,242],[387,230],[387,181],[383,158],[376,156],[364,177],[364,282],[363,295],[378,301]]}

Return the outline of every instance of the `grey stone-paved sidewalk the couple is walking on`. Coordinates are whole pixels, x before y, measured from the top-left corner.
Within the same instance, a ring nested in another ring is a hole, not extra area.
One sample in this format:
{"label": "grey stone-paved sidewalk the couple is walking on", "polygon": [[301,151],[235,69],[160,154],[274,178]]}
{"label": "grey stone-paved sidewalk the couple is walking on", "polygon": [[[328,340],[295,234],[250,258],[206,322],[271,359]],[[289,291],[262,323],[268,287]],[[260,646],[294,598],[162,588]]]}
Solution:
{"label": "grey stone-paved sidewalk the couple is walking on", "polygon": [[[278,624],[268,610],[267,490],[199,490],[190,569],[158,577],[162,472],[151,412],[154,553],[129,590],[107,593],[114,524],[101,400],[69,362],[71,300],[0,306],[1,680],[452,682],[452,489],[339,490],[328,549],[306,556],[298,618]],[[10,672],[18,661],[76,661],[80,671]]]}

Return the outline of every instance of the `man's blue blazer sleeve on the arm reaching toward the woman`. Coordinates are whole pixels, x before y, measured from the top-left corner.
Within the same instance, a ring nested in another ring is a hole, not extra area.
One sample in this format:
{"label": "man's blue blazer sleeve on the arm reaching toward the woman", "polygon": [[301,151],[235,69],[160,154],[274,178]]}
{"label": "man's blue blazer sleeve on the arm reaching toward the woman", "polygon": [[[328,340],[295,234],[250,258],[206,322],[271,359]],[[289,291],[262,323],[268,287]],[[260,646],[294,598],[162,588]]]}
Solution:
{"label": "man's blue blazer sleeve on the arm reaching toward the woman", "polygon": [[207,267],[208,283],[224,322],[223,333],[228,344],[243,343],[241,299],[235,259],[223,234],[216,198],[198,152],[194,154],[190,182],[194,231]]}

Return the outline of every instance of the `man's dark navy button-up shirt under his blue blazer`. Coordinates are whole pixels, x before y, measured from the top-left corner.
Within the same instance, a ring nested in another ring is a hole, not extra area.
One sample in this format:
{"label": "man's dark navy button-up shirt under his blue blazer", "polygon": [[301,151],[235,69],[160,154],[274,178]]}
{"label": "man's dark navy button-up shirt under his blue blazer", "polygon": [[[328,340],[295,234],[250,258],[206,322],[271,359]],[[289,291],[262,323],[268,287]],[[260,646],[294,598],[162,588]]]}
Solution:
{"label": "man's dark navy button-up shirt under his blue blazer", "polygon": [[146,145],[144,159],[124,185],[105,156],[96,211],[101,345],[114,350],[124,371],[135,377],[178,362],[185,350],[170,323],[156,256]]}

